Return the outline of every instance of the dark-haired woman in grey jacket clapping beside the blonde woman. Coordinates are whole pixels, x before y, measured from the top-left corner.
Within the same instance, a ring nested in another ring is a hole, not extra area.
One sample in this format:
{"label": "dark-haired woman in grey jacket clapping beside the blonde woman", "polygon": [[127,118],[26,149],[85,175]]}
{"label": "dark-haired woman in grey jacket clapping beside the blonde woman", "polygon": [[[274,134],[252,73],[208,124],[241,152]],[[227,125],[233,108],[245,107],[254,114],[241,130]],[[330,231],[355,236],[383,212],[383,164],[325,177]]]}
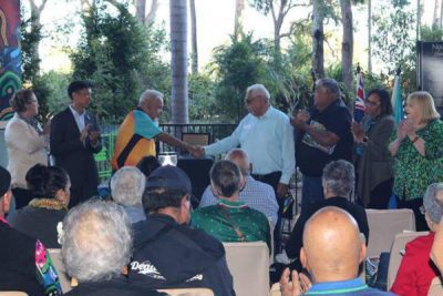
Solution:
{"label": "dark-haired woman in grey jacket clapping beside the blonde woman", "polygon": [[393,159],[389,137],[394,130],[391,98],[385,90],[369,92],[362,123],[352,123],[357,143],[357,193],[370,208],[387,208],[392,195]]}

